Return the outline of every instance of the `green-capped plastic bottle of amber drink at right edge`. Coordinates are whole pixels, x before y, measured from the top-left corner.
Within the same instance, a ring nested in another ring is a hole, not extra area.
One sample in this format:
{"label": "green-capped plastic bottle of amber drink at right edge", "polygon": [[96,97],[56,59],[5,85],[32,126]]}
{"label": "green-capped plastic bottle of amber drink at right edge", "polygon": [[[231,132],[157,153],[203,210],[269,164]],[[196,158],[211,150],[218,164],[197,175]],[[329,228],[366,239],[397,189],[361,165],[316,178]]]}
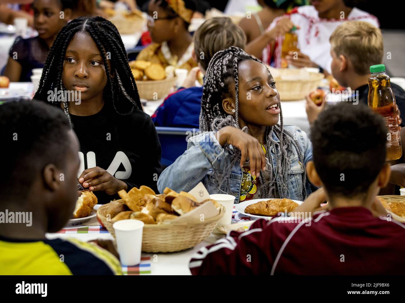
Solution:
{"label": "green-capped plastic bottle of amber drink at right edge", "polygon": [[396,102],[392,93],[390,77],[385,73],[385,65],[370,66],[369,107],[384,117],[387,133],[387,158],[396,160],[402,156],[401,137],[396,121]]}

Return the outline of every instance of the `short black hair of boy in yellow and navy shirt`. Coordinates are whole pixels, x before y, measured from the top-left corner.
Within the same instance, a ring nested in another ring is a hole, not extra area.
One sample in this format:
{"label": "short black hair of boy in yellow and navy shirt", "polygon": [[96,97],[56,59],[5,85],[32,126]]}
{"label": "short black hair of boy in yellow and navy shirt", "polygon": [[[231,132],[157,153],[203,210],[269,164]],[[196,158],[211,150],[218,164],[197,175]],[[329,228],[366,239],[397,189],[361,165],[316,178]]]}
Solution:
{"label": "short black hair of boy in yellow and navy shirt", "polygon": [[2,200],[18,203],[25,198],[47,164],[65,167],[69,130],[63,111],[43,102],[25,100],[0,105]]}

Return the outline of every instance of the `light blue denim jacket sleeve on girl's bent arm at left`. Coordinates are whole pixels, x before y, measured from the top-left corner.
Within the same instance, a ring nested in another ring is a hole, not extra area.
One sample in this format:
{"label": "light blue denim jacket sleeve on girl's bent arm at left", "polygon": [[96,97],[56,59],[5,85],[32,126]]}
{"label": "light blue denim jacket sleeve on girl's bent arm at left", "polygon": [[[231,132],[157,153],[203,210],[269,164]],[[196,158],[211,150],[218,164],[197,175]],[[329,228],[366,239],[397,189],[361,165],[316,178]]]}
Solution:
{"label": "light blue denim jacket sleeve on girl's bent arm at left", "polygon": [[228,152],[219,144],[214,132],[204,132],[188,140],[187,150],[168,166],[158,179],[159,192],[168,187],[188,192],[214,165],[229,161]]}

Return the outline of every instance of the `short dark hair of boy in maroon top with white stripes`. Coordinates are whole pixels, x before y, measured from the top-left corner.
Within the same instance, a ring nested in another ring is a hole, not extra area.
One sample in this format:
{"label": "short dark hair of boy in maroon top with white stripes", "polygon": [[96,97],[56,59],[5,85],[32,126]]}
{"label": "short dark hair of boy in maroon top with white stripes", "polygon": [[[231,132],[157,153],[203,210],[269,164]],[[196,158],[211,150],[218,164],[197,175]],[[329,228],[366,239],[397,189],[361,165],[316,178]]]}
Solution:
{"label": "short dark hair of boy in maroon top with white stripes", "polygon": [[362,197],[384,165],[387,129],[366,105],[338,103],[311,127],[313,162],[329,196]]}

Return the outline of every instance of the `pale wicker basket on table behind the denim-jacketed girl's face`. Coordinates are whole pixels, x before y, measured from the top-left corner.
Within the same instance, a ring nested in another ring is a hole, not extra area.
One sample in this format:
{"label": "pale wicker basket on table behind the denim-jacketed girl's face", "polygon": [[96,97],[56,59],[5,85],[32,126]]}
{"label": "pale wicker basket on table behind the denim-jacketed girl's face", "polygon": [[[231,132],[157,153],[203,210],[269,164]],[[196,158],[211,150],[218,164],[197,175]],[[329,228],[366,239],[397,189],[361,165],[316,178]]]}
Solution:
{"label": "pale wicker basket on table behind the denim-jacketed girl's face", "polygon": [[321,85],[324,74],[305,68],[273,68],[270,73],[280,94],[281,101],[302,100]]}

